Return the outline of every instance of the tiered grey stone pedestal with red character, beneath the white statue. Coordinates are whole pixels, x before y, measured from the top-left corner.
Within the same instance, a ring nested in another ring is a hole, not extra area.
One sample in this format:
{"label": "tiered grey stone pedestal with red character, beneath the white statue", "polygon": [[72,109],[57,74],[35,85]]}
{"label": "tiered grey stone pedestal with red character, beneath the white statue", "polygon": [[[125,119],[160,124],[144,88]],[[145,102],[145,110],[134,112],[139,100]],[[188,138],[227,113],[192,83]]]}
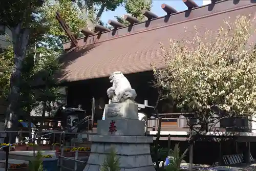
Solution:
{"label": "tiered grey stone pedestal with red character, beneath the white statue", "polygon": [[[138,120],[138,106],[127,100],[105,106],[105,120],[98,121],[97,135],[92,141],[91,154],[83,171],[100,171],[105,157],[114,148],[121,171],[155,171],[150,155],[153,137],[144,136],[144,122]],[[111,122],[114,129],[110,129]]]}

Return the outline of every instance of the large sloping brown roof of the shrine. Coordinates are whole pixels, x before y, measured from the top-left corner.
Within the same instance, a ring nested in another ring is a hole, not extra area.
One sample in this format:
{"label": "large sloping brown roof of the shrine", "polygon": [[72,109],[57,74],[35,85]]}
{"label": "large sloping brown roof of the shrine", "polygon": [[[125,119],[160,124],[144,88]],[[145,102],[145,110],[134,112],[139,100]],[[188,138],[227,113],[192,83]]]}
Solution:
{"label": "large sloping brown roof of the shrine", "polygon": [[195,37],[195,25],[202,36],[209,29],[207,41],[210,42],[224,19],[230,17],[232,21],[237,15],[253,16],[255,12],[256,3],[252,1],[223,1],[82,38],[73,49],[68,42],[64,47],[69,52],[61,58],[63,67],[58,79],[77,81],[106,77],[114,71],[143,72],[152,69],[151,63],[161,67],[159,42],[168,48],[169,38],[191,40]]}

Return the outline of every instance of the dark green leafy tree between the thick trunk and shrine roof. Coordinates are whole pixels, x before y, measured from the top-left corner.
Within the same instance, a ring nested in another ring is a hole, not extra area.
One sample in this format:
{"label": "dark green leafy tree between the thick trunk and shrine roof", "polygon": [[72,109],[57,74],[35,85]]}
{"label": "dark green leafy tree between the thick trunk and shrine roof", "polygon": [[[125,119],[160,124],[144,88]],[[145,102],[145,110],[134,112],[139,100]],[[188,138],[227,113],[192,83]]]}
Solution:
{"label": "dark green leafy tree between the thick trunk and shrine roof", "polygon": [[[36,112],[42,116],[40,125],[43,125],[43,118],[46,112],[51,112],[49,102],[56,101],[59,97],[57,89],[53,87],[56,84],[53,76],[60,65],[58,63],[58,56],[53,50],[40,47],[37,48],[37,53],[40,54],[39,57],[34,58],[34,54],[29,54],[23,63],[23,81],[20,85],[20,113],[24,113],[22,119],[28,119],[27,121],[31,123],[31,110],[38,109],[38,105],[42,104],[42,108],[39,108],[40,111]],[[38,85],[44,86],[35,88]],[[40,127],[39,132],[41,129],[42,127]],[[38,141],[40,142],[40,138],[38,138]]]}

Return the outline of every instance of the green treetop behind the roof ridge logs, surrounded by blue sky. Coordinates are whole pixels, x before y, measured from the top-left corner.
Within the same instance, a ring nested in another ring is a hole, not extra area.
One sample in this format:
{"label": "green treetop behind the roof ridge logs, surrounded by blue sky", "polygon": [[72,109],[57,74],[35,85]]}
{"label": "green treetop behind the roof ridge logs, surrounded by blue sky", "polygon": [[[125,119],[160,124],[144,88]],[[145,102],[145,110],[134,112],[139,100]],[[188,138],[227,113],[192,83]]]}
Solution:
{"label": "green treetop behind the roof ridge logs, surrounded by blue sky", "polygon": [[[143,9],[150,11],[152,7],[151,0],[125,0],[124,4],[125,11],[129,15],[139,19],[141,22],[145,20],[145,16],[142,14],[141,11]],[[124,25],[130,25],[130,23],[123,19],[123,17],[115,16],[115,18],[119,23],[122,23]]]}

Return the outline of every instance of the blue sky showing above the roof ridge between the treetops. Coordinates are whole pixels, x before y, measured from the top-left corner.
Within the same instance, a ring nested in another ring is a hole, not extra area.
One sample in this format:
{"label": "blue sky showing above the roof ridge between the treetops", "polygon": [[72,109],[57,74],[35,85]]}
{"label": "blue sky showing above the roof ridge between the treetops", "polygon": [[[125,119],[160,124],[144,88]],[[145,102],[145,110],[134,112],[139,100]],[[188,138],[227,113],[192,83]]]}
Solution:
{"label": "blue sky showing above the roof ridge between the treetops", "polygon": [[[202,6],[203,1],[195,1],[198,6]],[[164,16],[166,13],[162,10],[161,4],[167,4],[169,6],[172,6],[177,11],[184,11],[187,9],[186,5],[182,2],[182,0],[168,0],[168,1],[162,1],[162,0],[153,0],[153,7],[151,9],[151,12],[157,14],[158,16]],[[101,16],[101,20],[104,23],[107,23],[109,19],[115,19],[114,16],[122,16],[123,14],[126,14],[125,9],[123,7],[119,7],[115,11],[105,11],[103,12]]]}

